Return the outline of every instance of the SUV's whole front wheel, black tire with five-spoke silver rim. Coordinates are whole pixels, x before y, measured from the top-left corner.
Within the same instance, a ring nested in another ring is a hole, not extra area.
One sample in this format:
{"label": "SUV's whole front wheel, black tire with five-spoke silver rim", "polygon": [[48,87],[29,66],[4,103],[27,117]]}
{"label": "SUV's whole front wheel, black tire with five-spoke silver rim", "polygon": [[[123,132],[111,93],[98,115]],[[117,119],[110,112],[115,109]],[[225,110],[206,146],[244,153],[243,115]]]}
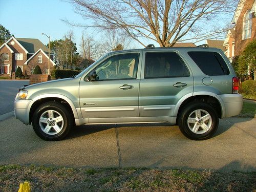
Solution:
{"label": "SUV's whole front wheel, black tire with five-spoke silver rim", "polygon": [[73,126],[73,118],[65,105],[46,102],[38,106],[33,114],[32,125],[37,136],[46,141],[65,138]]}

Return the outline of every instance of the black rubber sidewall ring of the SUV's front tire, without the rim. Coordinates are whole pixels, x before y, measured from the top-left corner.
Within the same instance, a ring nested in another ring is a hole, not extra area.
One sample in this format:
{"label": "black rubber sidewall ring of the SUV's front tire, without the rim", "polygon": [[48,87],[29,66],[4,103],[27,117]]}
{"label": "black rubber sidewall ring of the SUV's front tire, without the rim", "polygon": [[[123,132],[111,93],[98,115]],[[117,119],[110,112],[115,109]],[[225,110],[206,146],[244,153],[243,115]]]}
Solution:
{"label": "black rubber sidewall ring of the SUV's front tire, without the rim", "polygon": [[[39,125],[39,118],[42,115],[42,113],[48,111],[48,110],[54,110],[57,111],[63,118],[63,127],[62,130],[55,134],[55,135],[48,135],[45,132],[41,130],[41,127]],[[47,140],[47,141],[56,141],[61,140],[69,133],[70,128],[70,119],[68,119],[67,115],[69,114],[68,110],[65,108],[65,106],[62,106],[59,103],[55,102],[48,102],[41,104],[36,111],[33,114],[32,119],[32,125],[33,129],[40,138]]]}

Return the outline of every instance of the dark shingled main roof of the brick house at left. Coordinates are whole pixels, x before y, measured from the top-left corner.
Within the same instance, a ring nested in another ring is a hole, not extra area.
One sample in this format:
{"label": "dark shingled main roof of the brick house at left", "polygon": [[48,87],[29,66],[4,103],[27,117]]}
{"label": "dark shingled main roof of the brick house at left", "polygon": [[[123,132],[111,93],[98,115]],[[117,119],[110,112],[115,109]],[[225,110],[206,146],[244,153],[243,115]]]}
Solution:
{"label": "dark shingled main roof of the brick house at left", "polygon": [[[34,38],[16,38],[20,45],[22,45],[29,53],[35,53],[39,49],[48,54],[48,48],[42,44],[39,39]],[[52,53],[52,52],[50,52]]]}

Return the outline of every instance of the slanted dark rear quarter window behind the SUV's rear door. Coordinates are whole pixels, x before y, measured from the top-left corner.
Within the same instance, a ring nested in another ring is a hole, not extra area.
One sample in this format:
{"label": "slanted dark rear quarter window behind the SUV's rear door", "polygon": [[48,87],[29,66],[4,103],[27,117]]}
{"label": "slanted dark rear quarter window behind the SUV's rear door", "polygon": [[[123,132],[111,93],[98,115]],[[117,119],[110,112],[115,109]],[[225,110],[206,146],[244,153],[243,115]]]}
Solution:
{"label": "slanted dark rear quarter window behind the SUV's rear door", "polygon": [[206,75],[228,75],[229,69],[217,52],[191,51],[188,55]]}

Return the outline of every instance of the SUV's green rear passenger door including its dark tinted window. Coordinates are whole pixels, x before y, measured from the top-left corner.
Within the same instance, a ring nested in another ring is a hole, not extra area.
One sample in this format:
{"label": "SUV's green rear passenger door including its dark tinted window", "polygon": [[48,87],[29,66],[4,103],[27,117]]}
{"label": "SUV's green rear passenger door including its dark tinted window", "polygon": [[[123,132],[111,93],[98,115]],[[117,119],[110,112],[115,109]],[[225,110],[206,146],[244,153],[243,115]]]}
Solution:
{"label": "SUV's green rear passenger door including its dark tinted window", "polygon": [[193,75],[176,51],[145,51],[139,93],[140,116],[173,116],[177,102],[193,94]]}

